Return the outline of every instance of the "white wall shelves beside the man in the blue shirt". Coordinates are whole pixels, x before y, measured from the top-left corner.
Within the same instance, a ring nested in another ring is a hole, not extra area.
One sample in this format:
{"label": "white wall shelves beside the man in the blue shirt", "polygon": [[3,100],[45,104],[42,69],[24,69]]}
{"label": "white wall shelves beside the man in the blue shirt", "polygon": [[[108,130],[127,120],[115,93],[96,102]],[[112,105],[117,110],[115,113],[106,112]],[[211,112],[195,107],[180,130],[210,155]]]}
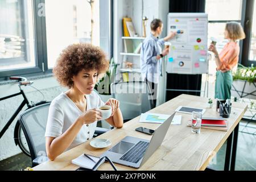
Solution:
{"label": "white wall shelves beside the man in the blue shirt", "polygon": [[[121,63],[121,72],[134,72],[141,73],[140,69],[140,49],[141,43],[145,38],[143,37],[130,37],[130,36],[122,36],[123,40],[123,52],[120,52],[122,55],[122,63]],[[139,51],[138,49],[139,48]],[[126,68],[123,64],[123,61],[129,61],[134,64],[133,68]]]}

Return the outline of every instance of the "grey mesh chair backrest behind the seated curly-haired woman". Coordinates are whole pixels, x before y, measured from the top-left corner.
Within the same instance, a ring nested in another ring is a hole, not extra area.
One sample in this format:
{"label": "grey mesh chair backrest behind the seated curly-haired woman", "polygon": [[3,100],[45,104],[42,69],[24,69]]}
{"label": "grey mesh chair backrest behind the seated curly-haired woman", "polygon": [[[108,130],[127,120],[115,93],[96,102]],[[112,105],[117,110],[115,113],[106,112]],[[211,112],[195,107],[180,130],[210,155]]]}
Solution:
{"label": "grey mesh chair backrest behind the seated curly-haired woman", "polygon": [[19,116],[19,123],[26,137],[32,160],[38,156],[47,156],[44,133],[50,104],[32,107]]}

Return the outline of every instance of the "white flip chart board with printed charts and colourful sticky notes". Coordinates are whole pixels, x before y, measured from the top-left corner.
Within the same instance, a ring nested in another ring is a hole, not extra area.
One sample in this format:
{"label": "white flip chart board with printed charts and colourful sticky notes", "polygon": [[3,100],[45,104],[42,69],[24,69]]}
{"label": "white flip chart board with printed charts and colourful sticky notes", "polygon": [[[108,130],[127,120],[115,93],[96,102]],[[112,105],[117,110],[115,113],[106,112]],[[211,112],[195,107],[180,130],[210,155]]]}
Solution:
{"label": "white flip chart board with printed charts and colourful sticky notes", "polygon": [[204,13],[168,14],[168,32],[177,35],[170,40],[167,72],[180,74],[208,73],[208,15]]}

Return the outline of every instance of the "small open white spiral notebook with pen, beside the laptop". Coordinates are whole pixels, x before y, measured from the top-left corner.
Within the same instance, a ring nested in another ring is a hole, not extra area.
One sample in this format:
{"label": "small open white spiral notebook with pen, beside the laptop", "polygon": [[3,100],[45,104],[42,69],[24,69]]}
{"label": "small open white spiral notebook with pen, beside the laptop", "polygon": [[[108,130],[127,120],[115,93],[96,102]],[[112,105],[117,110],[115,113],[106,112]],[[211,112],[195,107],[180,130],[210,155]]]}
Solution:
{"label": "small open white spiral notebook with pen, beside the laptop", "polygon": [[[86,155],[88,157],[86,157],[85,154],[82,154],[78,158],[73,159],[72,164],[76,164],[77,166],[80,166],[82,168],[92,169],[95,166],[95,164],[100,160],[100,158],[89,154]],[[102,161],[102,163],[104,163],[104,160]]]}

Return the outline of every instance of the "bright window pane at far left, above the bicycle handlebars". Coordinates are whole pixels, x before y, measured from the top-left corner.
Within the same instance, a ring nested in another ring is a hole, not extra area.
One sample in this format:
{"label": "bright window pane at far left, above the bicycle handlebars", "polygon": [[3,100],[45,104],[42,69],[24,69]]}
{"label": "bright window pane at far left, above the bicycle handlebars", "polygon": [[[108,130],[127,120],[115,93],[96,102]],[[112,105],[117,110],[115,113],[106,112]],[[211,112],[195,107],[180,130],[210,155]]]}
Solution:
{"label": "bright window pane at far left, above the bicycle handlebars", "polygon": [[0,71],[35,67],[32,1],[0,1]]}

